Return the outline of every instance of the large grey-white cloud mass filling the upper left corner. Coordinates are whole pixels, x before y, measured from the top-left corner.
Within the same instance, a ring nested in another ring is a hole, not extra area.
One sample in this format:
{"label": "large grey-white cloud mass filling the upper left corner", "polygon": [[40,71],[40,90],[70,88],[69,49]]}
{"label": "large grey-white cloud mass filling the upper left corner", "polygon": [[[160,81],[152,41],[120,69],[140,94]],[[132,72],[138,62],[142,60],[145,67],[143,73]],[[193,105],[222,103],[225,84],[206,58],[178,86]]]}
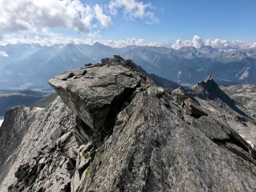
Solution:
{"label": "large grey-white cloud mass filling the upper left corner", "polygon": [[1,0],[0,32],[47,32],[65,28],[88,33],[94,20],[109,27],[110,16],[99,5],[84,5],[79,0]]}

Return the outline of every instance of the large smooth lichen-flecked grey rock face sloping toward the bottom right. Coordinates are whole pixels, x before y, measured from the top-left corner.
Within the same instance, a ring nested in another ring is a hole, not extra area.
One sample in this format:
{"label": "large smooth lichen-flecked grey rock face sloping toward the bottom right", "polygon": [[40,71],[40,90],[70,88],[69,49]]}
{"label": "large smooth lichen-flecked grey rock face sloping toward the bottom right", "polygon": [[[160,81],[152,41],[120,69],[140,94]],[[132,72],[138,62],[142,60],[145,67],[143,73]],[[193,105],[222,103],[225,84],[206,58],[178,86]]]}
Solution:
{"label": "large smooth lichen-flecked grey rock face sloping toward the bottom right", "polygon": [[255,186],[254,164],[177,118],[179,113],[172,112],[176,107],[164,105],[168,93],[163,100],[155,93],[150,87],[137,94],[118,114],[122,124],[96,154],[79,191],[226,191],[246,190],[242,183]]}

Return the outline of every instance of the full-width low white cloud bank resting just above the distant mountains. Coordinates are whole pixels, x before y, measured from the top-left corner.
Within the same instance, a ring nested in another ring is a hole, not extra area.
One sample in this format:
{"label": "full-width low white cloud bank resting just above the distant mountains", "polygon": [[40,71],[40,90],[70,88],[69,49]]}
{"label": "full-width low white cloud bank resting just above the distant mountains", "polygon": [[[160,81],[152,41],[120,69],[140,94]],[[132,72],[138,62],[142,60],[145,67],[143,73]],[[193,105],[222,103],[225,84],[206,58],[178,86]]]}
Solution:
{"label": "full-width low white cloud bank resting just above the distant mountains", "polygon": [[[96,31],[96,34],[98,31]],[[92,34],[92,37],[95,35]],[[240,40],[234,41],[227,41],[227,40],[205,40],[203,41],[200,36],[195,35],[192,40],[176,40],[175,43],[170,41],[163,41],[163,42],[147,42],[145,39],[138,39],[138,38],[130,38],[126,40],[92,40],[92,39],[77,39],[72,37],[63,37],[57,34],[50,34],[47,36],[36,36],[31,34],[20,34],[20,35],[2,35],[0,38],[0,45],[10,44],[23,44],[23,43],[38,43],[41,45],[54,45],[54,44],[68,44],[68,43],[75,43],[75,44],[89,44],[93,45],[98,41],[104,45],[108,45],[110,47],[121,48],[126,47],[127,45],[138,45],[138,46],[163,46],[163,47],[171,47],[174,49],[179,49],[181,47],[188,47],[193,46],[196,48],[201,48],[203,45],[212,46],[219,50],[232,50],[232,49],[251,49],[256,48],[256,42],[245,42]],[[0,55],[5,55],[5,53],[0,53]]]}

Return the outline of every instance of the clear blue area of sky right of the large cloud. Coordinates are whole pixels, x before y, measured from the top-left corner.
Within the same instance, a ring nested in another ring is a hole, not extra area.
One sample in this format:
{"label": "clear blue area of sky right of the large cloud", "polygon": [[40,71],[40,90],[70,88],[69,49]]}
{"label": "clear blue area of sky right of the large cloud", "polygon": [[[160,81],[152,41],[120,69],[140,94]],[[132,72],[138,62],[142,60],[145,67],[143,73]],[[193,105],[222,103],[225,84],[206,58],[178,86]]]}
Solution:
{"label": "clear blue area of sky right of the large cloud", "polygon": [[[107,5],[109,1],[83,1]],[[256,1],[158,0],[151,2],[158,22],[127,19],[122,11],[112,16],[113,24],[101,30],[103,39],[143,38],[148,41],[204,39],[256,41]],[[105,10],[107,12],[107,10]],[[79,36],[79,35],[78,35]]]}

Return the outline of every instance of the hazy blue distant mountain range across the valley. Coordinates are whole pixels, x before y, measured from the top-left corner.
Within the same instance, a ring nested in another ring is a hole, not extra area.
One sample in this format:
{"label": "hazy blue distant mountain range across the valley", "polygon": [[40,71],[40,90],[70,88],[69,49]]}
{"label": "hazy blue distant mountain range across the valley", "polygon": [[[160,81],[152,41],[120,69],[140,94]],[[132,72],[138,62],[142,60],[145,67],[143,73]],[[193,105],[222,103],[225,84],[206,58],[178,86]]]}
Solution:
{"label": "hazy blue distant mountain range across the valley", "polygon": [[46,87],[47,80],[64,70],[97,63],[104,57],[120,55],[156,74],[181,85],[193,85],[208,74],[221,85],[256,84],[256,49],[236,48],[219,51],[210,46],[200,49],[130,45],[112,48],[100,43],[7,44],[0,46],[0,89]]}

